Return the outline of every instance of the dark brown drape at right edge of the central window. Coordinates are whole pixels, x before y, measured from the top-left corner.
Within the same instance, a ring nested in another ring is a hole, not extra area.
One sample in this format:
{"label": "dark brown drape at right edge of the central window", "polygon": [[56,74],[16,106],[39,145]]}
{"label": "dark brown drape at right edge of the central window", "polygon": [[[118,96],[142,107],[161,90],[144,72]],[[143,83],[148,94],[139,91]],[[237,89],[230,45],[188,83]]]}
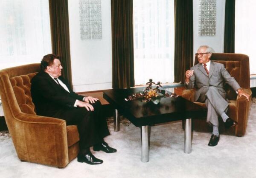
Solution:
{"label": "dark brown drape at right edge of the central window", "polygon": [[175,0],[174,82],[193,65],[193,0]]}

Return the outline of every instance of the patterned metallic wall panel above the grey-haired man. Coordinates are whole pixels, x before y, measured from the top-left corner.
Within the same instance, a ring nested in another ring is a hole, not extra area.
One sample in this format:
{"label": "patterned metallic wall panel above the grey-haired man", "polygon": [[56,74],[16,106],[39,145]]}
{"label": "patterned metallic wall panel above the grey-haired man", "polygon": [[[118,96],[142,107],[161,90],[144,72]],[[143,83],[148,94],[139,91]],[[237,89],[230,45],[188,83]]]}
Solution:
{"label": "patterned metallic wall panel above the grey-haired man", "polygon": [[216,34],[216,0],[199,0],[198,34],[214,36]]}

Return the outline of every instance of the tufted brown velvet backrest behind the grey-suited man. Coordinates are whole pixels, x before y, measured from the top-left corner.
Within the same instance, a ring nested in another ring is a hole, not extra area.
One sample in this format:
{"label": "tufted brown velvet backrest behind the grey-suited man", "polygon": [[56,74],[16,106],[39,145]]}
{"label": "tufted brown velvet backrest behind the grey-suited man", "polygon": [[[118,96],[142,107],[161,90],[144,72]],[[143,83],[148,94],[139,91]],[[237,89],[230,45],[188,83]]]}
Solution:
{"label": "tufted brown velvet backrest behind the grey-suited man", "polygon": [[[224,64],[227,71],[239,83],[241,88],[250,88],[249,57],[245,54],[212,53],[211,60]],[[195,57],[195,65],[198,63]],[[236,92],[228,85],[225,86],[228,99],[236,99]]]}

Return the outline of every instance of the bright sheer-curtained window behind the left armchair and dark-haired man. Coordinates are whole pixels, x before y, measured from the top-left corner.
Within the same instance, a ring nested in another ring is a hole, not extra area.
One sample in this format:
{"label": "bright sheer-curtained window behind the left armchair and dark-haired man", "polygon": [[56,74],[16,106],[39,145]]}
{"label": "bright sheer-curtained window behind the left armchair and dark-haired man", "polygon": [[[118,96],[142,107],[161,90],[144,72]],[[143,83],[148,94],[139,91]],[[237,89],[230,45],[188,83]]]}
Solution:
{"label": "bright sheer-curtained window behind the left armchair and dark-haired man", "polygon": [[40,62],[50,35],[48,0],[1,0],[0,69]]}

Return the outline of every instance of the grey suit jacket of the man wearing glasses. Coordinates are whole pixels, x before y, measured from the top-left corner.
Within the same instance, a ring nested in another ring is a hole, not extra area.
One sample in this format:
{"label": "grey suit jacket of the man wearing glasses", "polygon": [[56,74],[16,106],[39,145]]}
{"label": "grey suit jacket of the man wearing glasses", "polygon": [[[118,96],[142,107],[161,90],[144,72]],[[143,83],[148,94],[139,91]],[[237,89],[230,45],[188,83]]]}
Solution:
{"label": "grey suit jacket of the man wearing glasses", "polygon": [[235,91],[241,88],[235,78],[230,76],[223,64],[211,61],[209,77],[202,64],[190,68],[194,74],[190,77],[190,82],[185,87],[188,89],[196,88],[195,101],[198,101],[201,94],[208,91],[209,86],[214,86],[219,93],[225,94],[224,83],[230,85]]}

